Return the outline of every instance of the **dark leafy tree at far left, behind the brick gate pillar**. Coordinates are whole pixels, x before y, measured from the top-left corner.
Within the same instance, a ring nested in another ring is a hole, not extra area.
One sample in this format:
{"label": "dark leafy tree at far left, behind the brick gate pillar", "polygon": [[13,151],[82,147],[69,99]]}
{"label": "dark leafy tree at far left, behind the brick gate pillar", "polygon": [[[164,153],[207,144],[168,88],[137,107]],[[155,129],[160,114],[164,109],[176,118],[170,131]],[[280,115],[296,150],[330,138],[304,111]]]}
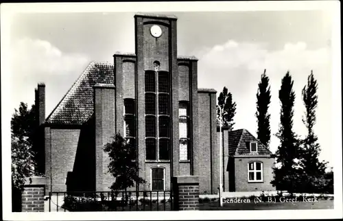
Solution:
{"label": "dark leafy tree at far left, behind the brick gate pillar", "polygon": [[19,110],[14,109],[11,120],[12,185],[23,189],[25,177],[34,174],[34,133],[36,131],[35,106],[30,110],[21,102]]}

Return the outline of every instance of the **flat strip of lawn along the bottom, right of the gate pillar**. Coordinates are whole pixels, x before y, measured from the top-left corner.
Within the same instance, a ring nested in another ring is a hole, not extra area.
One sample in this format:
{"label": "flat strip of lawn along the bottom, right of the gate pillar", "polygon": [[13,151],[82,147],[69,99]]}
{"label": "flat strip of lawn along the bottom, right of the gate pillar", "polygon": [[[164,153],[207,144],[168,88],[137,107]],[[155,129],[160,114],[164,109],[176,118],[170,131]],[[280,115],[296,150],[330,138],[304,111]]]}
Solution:
{"label": "flat strip of lawn along the bottom, right of the gate pillar", "polygon": [[224,203],[218,201],[200,203],[200,210],[270,210],[270,209],[333,209],[333,199],[318,200],[318,202],[243,202]]}

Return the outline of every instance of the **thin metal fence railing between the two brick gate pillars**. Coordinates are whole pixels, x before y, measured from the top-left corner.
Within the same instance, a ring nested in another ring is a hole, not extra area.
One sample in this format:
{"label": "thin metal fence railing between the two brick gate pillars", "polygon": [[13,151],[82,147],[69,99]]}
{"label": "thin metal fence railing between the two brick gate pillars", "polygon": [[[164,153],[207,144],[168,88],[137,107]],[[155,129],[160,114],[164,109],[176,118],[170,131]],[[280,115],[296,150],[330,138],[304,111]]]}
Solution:
{"label": "thin metal fence railing between the two brick gate pillars", "polygon": [[166,211],[171,191],[53,191],[49,211]]}

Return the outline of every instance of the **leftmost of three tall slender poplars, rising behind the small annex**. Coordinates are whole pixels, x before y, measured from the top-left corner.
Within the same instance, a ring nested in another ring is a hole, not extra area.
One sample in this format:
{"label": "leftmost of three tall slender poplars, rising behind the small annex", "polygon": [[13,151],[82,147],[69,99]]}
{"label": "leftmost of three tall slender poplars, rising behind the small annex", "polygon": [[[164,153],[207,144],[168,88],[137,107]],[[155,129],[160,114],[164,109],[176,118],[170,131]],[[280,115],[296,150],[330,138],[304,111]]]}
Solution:
{"label": "leftmost of three tall slender poplars, rising behind the small annex", "polygon": [[264,73],[261,75],[261,81],[259,82],[259,89],[257,90],[257,139],[261,141],[267,148],[269,148],[270,142],[270,114],[268,114],[268,108],[270,104],[270,86],[269,78]]}

